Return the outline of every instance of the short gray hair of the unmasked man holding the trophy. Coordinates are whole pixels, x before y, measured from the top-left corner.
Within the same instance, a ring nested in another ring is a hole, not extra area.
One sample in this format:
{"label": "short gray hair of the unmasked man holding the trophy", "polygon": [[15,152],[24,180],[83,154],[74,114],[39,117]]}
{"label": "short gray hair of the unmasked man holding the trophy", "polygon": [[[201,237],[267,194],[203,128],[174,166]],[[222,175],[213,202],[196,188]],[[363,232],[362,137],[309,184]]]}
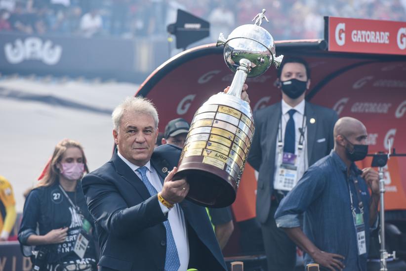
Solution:
{"label": "short gray hair of the unmasked man holding the trophy", "polygon": [[126,111],[150,115],[155,121],[155,128],[158,128],[159,119],[155,105],[147,98],[129,96],[114,109],[111,115],[114,130],[119,131],[122,116]]}

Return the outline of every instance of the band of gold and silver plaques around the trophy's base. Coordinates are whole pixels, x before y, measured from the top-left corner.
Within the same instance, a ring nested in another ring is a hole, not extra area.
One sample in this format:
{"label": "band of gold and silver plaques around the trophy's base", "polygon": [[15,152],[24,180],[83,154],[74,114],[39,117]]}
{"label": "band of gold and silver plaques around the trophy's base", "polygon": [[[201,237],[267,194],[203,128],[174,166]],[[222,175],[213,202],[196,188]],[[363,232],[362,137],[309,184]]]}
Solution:
{"label": "band of gold and silver plaques around the trophy's base", "polygon": [[203,164],[240,181],[254,126],[241,111],[225,105],[202,106],[192,120],[181,160],[200,156]]}

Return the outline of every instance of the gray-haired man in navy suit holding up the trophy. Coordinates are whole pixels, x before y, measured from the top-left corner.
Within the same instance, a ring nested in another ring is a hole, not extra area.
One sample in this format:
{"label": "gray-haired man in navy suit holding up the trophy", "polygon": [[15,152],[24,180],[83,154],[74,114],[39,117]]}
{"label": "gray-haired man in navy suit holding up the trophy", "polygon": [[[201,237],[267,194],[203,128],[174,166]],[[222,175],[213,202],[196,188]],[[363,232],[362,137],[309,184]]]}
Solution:
{"label": "gray-haired man in navy suit holding up the trophy", "polygon": [[128,97],[114,110],[113,123],[118,148],[82,180],[99,235],[101,270],[226,270],[206,210],[183,200],[185,179],[172,179],[181,149],[165,144],[154,151],[154,105]]}

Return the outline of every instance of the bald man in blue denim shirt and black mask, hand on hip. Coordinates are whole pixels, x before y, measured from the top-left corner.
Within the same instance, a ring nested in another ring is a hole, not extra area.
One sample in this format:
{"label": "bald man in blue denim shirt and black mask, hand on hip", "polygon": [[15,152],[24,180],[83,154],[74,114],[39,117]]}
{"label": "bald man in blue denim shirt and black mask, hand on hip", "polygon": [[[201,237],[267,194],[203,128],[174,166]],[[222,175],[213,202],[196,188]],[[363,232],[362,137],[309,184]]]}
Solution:
{"label": "bald man in blue denim shirt and black mask, hand on hip", "polygon": [[369,231],[376,227],[380,198],[378,173],[354,163],[367,154],[366,137],[359,120],[339,119],[334,149],[307,170],[275,214],[277,226],[306,252],[305,264],[366,271]]}

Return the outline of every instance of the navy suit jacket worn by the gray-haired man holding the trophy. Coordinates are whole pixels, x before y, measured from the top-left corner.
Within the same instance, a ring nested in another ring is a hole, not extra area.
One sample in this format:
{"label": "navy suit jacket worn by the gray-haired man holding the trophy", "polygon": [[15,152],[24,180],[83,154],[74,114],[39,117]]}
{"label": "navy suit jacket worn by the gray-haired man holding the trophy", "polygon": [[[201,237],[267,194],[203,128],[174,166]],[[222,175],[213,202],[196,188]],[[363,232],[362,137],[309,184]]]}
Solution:
{"label": "navy suit jacket worn by the gray-haired man holding the trophy", "polygon": [[[154,150],[151,164],[163,180],[177,166],[181,149],[165,144]],[[99,236],[102,271],[163,271],[166,232],[157,195],[118,156],[82,179],[89,211]],[[189,241],[189,268],[227,270],[205,208],[187,200],[180,203]]]}

